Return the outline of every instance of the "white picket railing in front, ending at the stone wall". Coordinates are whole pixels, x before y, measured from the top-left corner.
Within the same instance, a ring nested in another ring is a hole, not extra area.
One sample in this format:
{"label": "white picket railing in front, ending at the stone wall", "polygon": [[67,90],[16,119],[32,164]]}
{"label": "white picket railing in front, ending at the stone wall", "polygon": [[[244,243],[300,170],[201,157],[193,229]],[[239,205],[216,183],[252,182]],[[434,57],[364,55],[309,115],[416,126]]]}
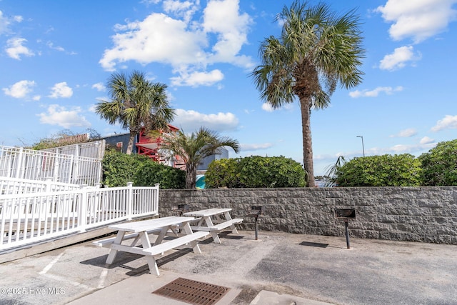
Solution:
{"label": "white picket railing in front, ending at the stone wall", "polygon": [[0,196],[0,250],[159,213],[159,184]]}

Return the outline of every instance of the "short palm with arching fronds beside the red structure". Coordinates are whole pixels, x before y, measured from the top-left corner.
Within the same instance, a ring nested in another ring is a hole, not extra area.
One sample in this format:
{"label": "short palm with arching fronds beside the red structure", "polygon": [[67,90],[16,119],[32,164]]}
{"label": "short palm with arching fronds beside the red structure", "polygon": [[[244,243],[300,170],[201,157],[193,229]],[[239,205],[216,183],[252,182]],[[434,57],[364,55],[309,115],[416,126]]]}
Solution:
{"label": "short palm with arching fronds beside the red structure", "polygon": [[161,134],[164,144],[162,151],[171,151],[171,154],[180,156],[186,162],[186,189],[195,189],[197,166],[206,156],[218,154],[223,146],[231,147],[236,153],[239,151],[238,141],[226,136],[219,136],[215,131],[201,127],[191,135],[179,130],[176,133]]}

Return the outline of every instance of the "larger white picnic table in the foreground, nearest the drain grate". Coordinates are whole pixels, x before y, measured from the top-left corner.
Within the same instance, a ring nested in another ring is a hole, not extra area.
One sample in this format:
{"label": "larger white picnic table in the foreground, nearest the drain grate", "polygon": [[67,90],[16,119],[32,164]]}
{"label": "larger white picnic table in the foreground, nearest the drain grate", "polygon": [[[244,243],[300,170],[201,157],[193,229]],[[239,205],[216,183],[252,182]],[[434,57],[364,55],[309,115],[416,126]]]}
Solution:
{"label": "larger white picnic table in the foreground, nearest the drain grate", "polygon": [[[140,254],[146,257],[151,274],[159,276],[160,273],[154,256],[163,255],[165,251],[185,244],[191,244],[194,253],[201,254],[197,239],[208,236],[209,232],[192,231],[189,224],[190,221],[195,221],[194,217],[169,216],[114,224],[109,226],[109,229],[118,230],[116,237],[94,241],[94,244],[110,249],[106,258],[106,264],[112,264],[114,262],[118,251]],[[157,239],[152,245],[149,234],[158,234]],[[164,240],[166,235],[176,236],[176,238]],[[134,241],[126,244],[125,241],[129,239],[134,239]],[[141,240],[141,246],[136,245],[139,240]]]}

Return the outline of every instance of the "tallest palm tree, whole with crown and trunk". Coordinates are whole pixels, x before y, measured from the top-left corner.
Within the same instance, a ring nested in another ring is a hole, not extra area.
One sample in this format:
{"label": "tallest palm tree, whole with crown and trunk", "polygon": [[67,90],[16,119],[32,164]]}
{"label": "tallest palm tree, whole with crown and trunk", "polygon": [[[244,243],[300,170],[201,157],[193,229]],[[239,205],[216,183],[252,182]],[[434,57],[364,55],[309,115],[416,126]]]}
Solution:
{"label": "tallest palm tree, whole with crown and trunk", "polygon": [[266,38],[260,47],[261,65],[251,76],[261,98],[274,109],[292,103],[301,108],[303,166],[308,186],[314,186],[311,109],[324,109],[341,84],[348,89],[361,83],[358,70],[365,53],[358,16],[354,11],[337,16],[327,4],[294,1],[284,6],[276,21],[283,21],[281,36]]}

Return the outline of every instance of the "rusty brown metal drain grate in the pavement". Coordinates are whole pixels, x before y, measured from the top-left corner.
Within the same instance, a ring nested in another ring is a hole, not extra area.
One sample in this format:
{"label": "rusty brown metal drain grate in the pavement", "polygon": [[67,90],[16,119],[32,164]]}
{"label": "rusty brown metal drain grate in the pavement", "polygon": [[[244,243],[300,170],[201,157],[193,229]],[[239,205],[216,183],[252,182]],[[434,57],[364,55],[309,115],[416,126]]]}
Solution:
{"label": "rusty brown metal drain grate in the pavement", "polygon": [[227,287],[180,277],[157,289],[153,294],[194,305],[213,305],[229,290]]}

